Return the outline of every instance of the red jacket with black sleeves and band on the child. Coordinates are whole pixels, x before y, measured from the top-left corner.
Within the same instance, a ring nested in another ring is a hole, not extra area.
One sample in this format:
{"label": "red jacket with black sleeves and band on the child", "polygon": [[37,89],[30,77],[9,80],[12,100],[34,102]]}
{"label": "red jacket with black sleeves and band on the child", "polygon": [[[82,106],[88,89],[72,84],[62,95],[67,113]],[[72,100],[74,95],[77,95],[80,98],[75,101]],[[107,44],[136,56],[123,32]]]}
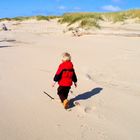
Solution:
{"label": "red jacket with black sleeves and band on the child", "polygon": [[54,81],[59,86],[71,86],[72,82],[77,82],[77,77],[71,61],[62,62],[55,74]]}

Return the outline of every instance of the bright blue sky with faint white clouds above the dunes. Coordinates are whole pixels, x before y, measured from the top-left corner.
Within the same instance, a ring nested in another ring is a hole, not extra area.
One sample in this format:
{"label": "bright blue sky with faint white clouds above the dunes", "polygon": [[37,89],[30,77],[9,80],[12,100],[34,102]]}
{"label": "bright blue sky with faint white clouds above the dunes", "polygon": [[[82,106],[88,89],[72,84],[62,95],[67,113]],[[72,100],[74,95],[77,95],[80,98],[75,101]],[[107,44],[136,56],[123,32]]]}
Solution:
{"label": "bright blue sky with faint white clouds above the dunes", "polygon": [[1,0],[0,18],[140,9],[140,0]]}

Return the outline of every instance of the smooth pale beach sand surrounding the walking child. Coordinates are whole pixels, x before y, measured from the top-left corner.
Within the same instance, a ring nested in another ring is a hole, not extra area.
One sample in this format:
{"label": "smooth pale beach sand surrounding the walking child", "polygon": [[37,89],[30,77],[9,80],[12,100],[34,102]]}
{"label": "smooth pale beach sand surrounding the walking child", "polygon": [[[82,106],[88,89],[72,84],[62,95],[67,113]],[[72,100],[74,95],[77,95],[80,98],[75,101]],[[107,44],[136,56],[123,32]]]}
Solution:
{"label": "smooth pale beach sand surrounding the walking child", "polygon": [[[7,24],[13,30],[0,32],[0,140],[140,139],[139,37],[72,37],[55,21]],[[81,104],[69,111],[43,94],[58,99],[51,83],[65,51],[78,76],[69,99],[79,95]]]}

